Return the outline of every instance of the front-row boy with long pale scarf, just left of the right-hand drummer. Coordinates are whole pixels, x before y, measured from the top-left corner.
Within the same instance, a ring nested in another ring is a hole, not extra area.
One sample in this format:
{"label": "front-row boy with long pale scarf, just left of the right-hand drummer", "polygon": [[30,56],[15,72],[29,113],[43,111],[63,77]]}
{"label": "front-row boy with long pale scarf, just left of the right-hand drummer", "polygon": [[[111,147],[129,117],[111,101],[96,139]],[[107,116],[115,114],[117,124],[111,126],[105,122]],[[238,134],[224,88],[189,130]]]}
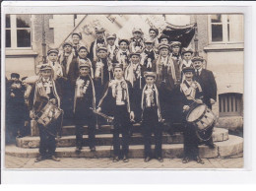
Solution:
{"label": "front-row boy with long pale scarf, just left of the right-hand drummer", "polygon": [[162,162],[161,157],[161,114],[160,114],[160,96],[155,84],[157,74],[155,72],[144,73],[146,85],[142,92],[142,128],[144,135],[145,161],[152,159],[151,138],[152,133],[155,136],[155,157]]}

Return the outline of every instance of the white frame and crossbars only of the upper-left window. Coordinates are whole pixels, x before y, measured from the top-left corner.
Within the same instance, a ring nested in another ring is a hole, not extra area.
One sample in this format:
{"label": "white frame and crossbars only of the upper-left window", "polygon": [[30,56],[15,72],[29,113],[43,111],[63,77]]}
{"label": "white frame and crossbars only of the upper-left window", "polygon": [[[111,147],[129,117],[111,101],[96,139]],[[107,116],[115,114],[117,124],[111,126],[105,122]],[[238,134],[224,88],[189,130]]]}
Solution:
{"label": "white frame and crossbars only of the upper-left window", "polygon": [[[30,14],[21,14],[21,15],[30,15]],[[6,16],[5,16],[6,17]],[[6,50],[32,50],[32,15],[31,18],[31,27],[30,28],[17,28],[17,15],[10,14],[10,28],[8,30],[11,31],[11,47],[5,47]],[[31,46],[30,47],[18,47],[18,30],[27,30],[30,29],[31,31]],[[5,28],[5,30],[7,30]]]}

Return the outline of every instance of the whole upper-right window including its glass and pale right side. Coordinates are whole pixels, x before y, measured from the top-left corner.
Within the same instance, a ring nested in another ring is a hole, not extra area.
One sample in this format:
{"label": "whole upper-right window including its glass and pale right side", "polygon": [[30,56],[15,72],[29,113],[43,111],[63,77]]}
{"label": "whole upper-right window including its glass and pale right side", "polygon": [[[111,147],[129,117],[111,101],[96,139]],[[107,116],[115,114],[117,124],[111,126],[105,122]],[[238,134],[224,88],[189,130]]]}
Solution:
{"label": "whole upper-right window including its glass and pale right side", "polygon": [[210,15],[211,43],[243,42],[243,15]]}

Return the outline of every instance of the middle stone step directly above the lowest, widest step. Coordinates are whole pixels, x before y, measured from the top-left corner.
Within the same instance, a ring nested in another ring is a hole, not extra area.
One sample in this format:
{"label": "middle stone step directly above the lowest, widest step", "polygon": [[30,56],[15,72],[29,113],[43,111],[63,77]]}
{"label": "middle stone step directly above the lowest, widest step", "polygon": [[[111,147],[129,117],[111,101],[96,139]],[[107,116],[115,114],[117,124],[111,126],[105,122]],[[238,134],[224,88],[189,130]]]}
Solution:
{"label": "middle stone step directly above the lowest, widest step", "polygon": [[[121,135],[120,135],[121,136]],[[84,146],[88,146],[88,135],[84,135]],[[228,131],[222,128],[215,128],[213,133],[214,142],[221,142],[228,139]],[[38,148],[39,147],[39,137],[23,137],[16,138],[16,143],[18,147],[21,148]],[[154,138],[152,138],[152,143],[154,144]],[[163,133],[162,144],[181,144],[183,143],[182,133],[175,133],[169,135]],[[141,133],[134,133],[131,137],[130,145],[143,145],[143,137]],[[96,146],[111,146],[112,145],[112,134],[99,134],[96,135]],[[75,147],[76,137],[73,136],[63,136],[57,141],[57,147]]]}

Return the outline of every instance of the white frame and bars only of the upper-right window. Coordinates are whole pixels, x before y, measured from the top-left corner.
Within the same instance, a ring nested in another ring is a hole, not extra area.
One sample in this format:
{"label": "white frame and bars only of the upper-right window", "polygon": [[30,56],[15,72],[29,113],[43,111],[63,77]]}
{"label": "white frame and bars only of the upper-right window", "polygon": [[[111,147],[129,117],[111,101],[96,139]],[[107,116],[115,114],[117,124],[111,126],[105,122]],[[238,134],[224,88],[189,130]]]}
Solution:
{"label": "white frame and bars only of the upper-right window", "polygon": [[[210,44],[239,44],[239,43],[243,43],[243,41],[228,41],[228,31],[227,31],[227,25],[229,24],[229,32],[230,32],[230,21],[227,22],[227,16],[228,15],[224,15],[224,14],[220,14],[222,17],[222,23],[212,23],[211,22],[211,16],[213,15],[218,15],[218,14],[212,14],[212,15],[208,15],[208,40]],[[222,24],[223,25],[223,41],[213,41],[212,39],[212,25],[213,24]],[[243,37],[244,38],[244,37]]]}

